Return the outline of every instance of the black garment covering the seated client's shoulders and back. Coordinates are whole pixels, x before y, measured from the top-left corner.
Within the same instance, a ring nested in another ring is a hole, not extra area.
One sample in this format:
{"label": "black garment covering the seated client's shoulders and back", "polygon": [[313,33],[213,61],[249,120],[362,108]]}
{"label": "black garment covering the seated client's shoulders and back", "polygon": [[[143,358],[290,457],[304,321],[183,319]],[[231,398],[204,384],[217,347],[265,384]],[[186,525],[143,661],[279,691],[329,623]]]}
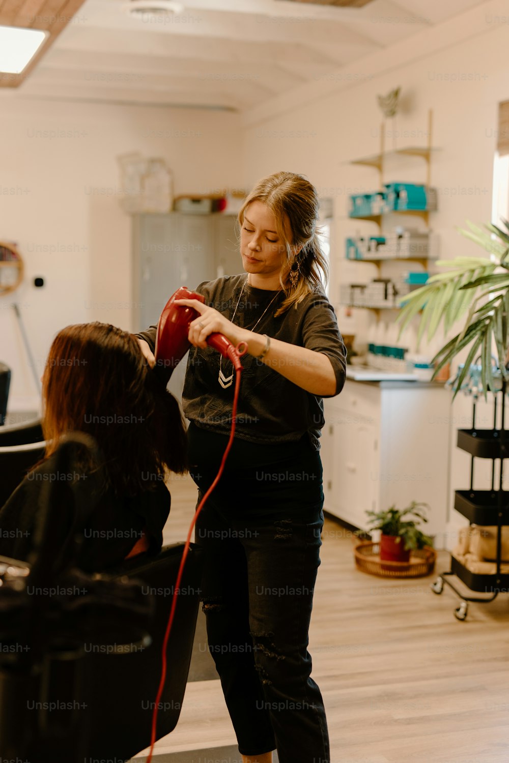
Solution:
{"label": "black garment covering the seated client's shoulders and back", "polygon": [[[0,509],[0,555],[27,560],[34,546],[37,513],[43,508],[43,485],[56,478],[69,481],[88,515],[80,527],[82,542],[77,567],[96,572],[117,565],[140,540],[143,530],[150,542],[149,553],[159,553],[171,501],[163,481],[154,491],[119,497],[112,490],[98,490],[93,479],[85,474],[56,475],[48,463],[43,462],[28,473]],[[70,508],[69,514],[65,506],[63,511],[64,515],[54,529],[62,539],[69,530],[70,525],[66,526],[66,523],[71,519]]]}

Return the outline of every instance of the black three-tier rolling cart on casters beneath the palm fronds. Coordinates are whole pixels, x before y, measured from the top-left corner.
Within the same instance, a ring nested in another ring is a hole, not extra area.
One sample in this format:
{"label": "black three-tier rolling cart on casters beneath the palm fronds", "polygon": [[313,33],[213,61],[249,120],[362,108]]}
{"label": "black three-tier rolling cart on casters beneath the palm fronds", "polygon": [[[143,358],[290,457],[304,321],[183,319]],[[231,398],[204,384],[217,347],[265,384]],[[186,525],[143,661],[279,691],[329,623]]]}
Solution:
{"label": "black three-tier rolling cart on casters beneath the palm fronds", "polygon": [[[470,524],[497,527],[497,552],[496,552],[496,571],[492,574],[475,573],[469,570],[459,559],[451,556],[451,568],[448,572],[443,572],[432,584],[431,590],[435,594],[441,594],[443,584],[449,585],[453,591],[461,598],[461,602],[454,615],[458,620],[465,620],[469,609],[469,601],[475,601],[479,604],[487,604],[493,601],[501,591],[509,591],[509,574],[501,573],[501,537],[502,527],[509,525],[509,491],[502,490],[504,459],[509,458],[507,451],[507,432],[504,429],[505,418],[505,394],[506,382],[501,382],[501,390],[495,394],[495,412],[492,430],[480,430],[475,427],[475,400],[472,411],[472,429],[458,430],[457,446],[470,453],[472,462],[470,467],[470,488],[469,490],[456,490],[454,497],[454,508],[469,520]],[[501,428],[497,429],[497,407],[498,395],[501,394]],[[474,459],[491,459],[491,490],[474,490]],[[498,490],[495,490],[495,461],[500,460]],[[452,581],[448,579],[449,575],[456,575],[465,583],[471,591],[475,593],[491,594],[487,597],[469,597],[463,596]]]}

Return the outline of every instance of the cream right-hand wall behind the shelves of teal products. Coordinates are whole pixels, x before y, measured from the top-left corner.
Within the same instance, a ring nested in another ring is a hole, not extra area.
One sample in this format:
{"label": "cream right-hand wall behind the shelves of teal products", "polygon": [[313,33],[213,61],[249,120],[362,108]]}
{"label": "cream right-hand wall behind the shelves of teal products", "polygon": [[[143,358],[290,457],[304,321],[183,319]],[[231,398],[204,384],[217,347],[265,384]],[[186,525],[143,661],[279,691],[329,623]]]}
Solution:
{"label": "cream right-hand wall behind the shelves of teal products", "polygon": [[[348,164],[350,159],[379,150],[382,112],[377,95],[401,85],[401,114],[395,124],[391,120],[386,124],[395,133],[386,136],[387,148],[392,147],[393,137],[398,148],[426,145],[427,111],[433,109],[433,145],[440,151],[433,159],[431,184],[438,188],[439,211],[431,216],[431,226],[440,233],[443,259],[477,253],[456,228],[466,220],[482,224],[491,219],[498,102],[509,98],[508,35],[507,4],[493,0],[390,51],[374,54],[358,66],[330,72],[316,85],[302,87],[279,104],[273,102],[259,114],[253,110],[248,115],[247,186],[271,172],[291,170],[308,175],[321,195],[334,199],[330,298],[343,333],[362,338],[369,321],[375,320],[370,311],[355,310],[349,316],[346,308],[339,307],[339,284],[366,282],[376,272],[375,266],[344,259],[344,239],[358,231],[370,230],[371,235],[375,231],[372,224],[348,220],[346,209],[350,193],[378,186],[374,169]],[[407,178],[424,182],[424,162],[408,159],[388,166],[384,180]],[[491,427],[491,408],[479,405],[478,427]],[[456,448],[456,429],[468,428],[471,419],[472,400],[460,394],[449,422],[453,430],[446,507],[449,548],[455,542],[456,527],[466,523],[453,510],[453,491],[469,487],[470,459]],[[440,422],[437,434],[439,428]],[[491,484],[488,467],[488,462],[478,462],[476,487]]]}

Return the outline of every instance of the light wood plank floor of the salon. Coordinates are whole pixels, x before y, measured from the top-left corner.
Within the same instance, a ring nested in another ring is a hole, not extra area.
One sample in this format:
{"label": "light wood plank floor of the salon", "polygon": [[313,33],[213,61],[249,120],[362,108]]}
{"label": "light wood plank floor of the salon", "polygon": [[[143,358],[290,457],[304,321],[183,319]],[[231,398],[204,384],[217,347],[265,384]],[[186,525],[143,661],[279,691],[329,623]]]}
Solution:
{"label": "light wood plank floor of the salon", "polygon": [[[177,478],[170,489],[165,542],[185,539],[195,508],[190,479]],[[470,604],[459,622],[453,591],[430,591],[436,574],[391,581],[357,571],[350,534],[331,520],[322,540],[309,651],[330,763],[507,763],[507,594]],[[449,555],[440,552],[437,570],[448,568]],[[156,752],[234,743],[219,681],[197,681]]]}

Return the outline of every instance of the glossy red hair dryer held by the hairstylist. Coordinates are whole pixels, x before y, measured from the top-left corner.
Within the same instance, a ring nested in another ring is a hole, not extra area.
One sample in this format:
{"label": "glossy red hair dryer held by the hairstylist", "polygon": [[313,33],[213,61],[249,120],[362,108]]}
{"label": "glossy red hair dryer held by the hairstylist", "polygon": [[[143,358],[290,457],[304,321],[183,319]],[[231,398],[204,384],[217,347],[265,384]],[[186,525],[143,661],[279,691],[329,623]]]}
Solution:
{"label": "glossy red hair dryer held by the hairstylist", "polygon": [[[173,294],[159,317],[156,333],[156,369],[158,373],[168,384],[176,366],[187,353],[191,343],[188,340],[189,324],[192,320],[199,317],[199,313],[194,307],[188,307],[185,304],[175,304],[176,299],[198,299],[205,302],[205,298],[196,291],[189,291],[187,286],[181,286]],[[240,342],[235,347],[227,340],[223,334],[214,332],[208,335],[207,344],[224,358],[229,359],[234,364],[234,369],[242,370],[240,358],[245,355],[246,343]]]}

